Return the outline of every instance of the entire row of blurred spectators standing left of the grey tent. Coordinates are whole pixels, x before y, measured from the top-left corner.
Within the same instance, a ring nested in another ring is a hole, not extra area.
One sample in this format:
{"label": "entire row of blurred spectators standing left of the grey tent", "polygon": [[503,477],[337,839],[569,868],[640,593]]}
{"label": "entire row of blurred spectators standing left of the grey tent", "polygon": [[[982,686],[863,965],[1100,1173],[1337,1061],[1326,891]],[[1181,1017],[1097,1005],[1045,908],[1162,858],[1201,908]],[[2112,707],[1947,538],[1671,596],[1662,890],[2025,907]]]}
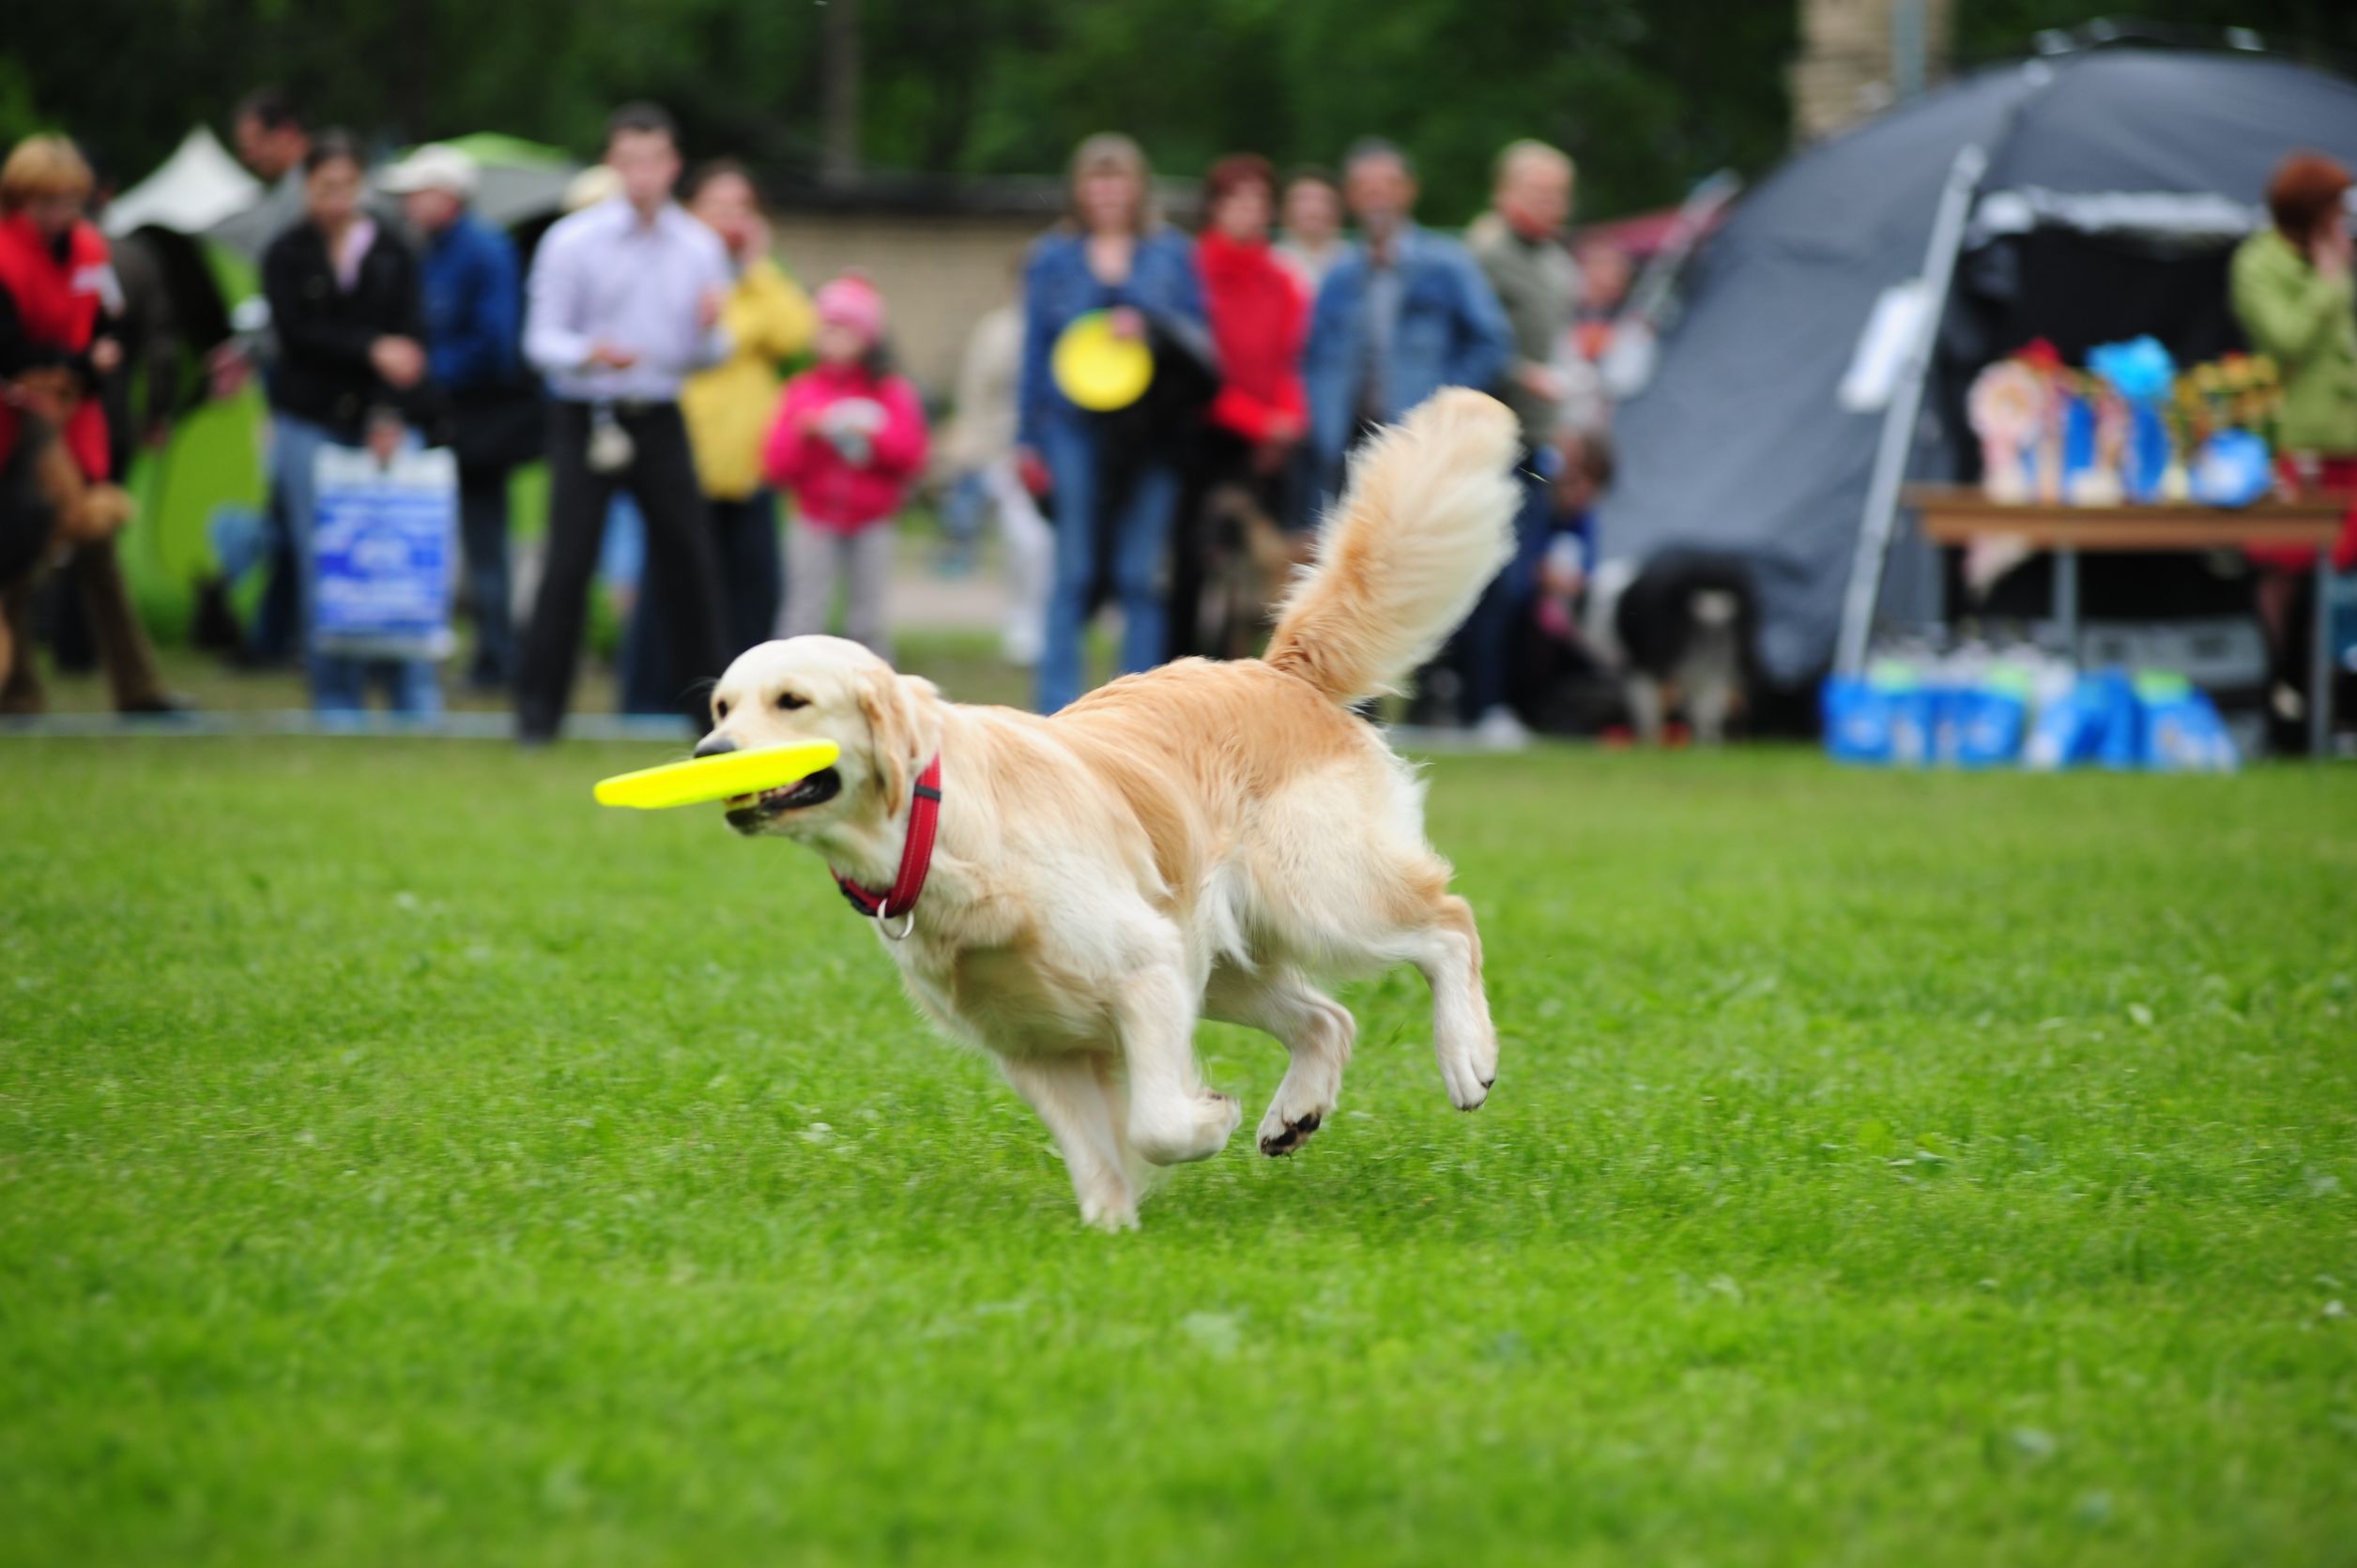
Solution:
{"label": "entire row of blurred spectators standing left of the grey tent", "polygon": [[[247,219],[269,233],[269,321],[214,356],[212,382],[259,377],[269,502],[214,545],[224,571],[266,578],[245,655],[299,663],[321,712],[358,712],[372,689],[401,714],[443,700],[434,658],[309,634],[330,448],[384,462],[450,448],[471,620],[462,679],[511,691],[526,743],[563,724],[601,578],[634,585],[629,710],[700,722],[702,684],[738,651],[834,627],[837,599],[844,634],[889,655],[893,523],[929,469],[952,552],[971,552],[985,523],[999,533],[1004,653],[1035,667],[1042,712],[1091,684],[1087,630],[1105,601],[1120,606],[1120,672],[1249,653],[1351,450],[1440,387],[1490,389],[1516,410],[1525,507],[1516,561],[1426,672],[1419,717],[1520,740],[1518,681],[1551,644],[1579,641],[1589,509],[1612,462],[1596,365],[1629,266],[1610,250],[1574,259],[1574,167],[1541,141],[1499,153],[1492,205],[1459,241],[1417,224],[1414,160],[1388,141],[1351,146],[1339,174],[1223,158],[1188,233],[1160,212],[1136,141],[1089,137],[1070,215],[1032,245],[1021,297],[973,330],[936,457],[874,283],[846,274],[806,295],[773,255],[750,172],[717,160],[681,184],[679,134],[658,106],[613,113],[601,163],[528,269],[474,210],[481,172],[455,146],[370,182],[351,134],[311,127],[278,92],[250,94],[233,132],[269,189]],[[59,556],[118,705],[170,707],[111,528],[61,526],[33,474],[33,453],[57,448],[104,490],[127,460],[106,431],[127,302],[90,196],[90,167],[61,137],[28,139],[0,182],[5,625],[24,639],[38,566]],[[1084,316],[1153,356],[1127,406],[1084,408],[1058,380],[1058,342]],[[549,472],[547,540],[511,625],[509,479],[535,460]],[[92,505],[113,512],[127,507]],[[38,705],[24,689],[33,658],[0,644],[9,663],[14,705]]]}

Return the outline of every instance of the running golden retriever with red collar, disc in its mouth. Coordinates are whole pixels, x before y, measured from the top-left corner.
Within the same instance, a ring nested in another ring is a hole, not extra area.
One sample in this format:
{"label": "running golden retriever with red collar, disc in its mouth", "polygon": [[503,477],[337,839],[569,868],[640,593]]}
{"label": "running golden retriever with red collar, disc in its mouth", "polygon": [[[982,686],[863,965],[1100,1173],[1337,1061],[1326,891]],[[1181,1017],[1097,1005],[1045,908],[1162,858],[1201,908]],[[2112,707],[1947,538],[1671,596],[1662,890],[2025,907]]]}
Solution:
{"label": "running golden retriever with red collar, disc in its mouth", "polygon": [[[886,898],[933,832],[922,894],[874,910],[877,941],[1047,1122],[1087,1224],[1136,1226],[1155,1167],[1235,1132],[1235,1099],[1195,1061],[1197,1016],[1289,1052],[1268,1155],[1334,1115],[1355,1033],[1318,988],[1334,976],[1414,964],[1450,1103],[1487,1099],[1473,910],[1424,839],[1417,776],[1351,705],[1431,658],[1506,564],[1516,441],[1501,403],[1442,391],[1362,448],[1259,660],[1178,660],[1037,717],[794,637],[714,689],[698,755],[841,747],[823,773],[728,802],[738,832],[794,839]],[[936,762],[938,806],[919,783]]]}

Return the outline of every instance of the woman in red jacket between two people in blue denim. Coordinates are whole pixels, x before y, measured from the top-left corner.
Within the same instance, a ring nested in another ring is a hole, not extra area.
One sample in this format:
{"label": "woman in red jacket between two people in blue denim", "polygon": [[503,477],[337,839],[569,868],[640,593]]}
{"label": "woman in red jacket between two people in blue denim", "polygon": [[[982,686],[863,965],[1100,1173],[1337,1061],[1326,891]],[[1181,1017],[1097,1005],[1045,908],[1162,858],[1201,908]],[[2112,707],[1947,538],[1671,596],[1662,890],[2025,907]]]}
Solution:
{"label": "woman in red jacket between two people in blue denim", "polygon": [[1277,172],[1266,158],[1221,158],[1204,174],[1204,226],[1195,241],[1211,342],[1219,347],[1219,394],[1204,410],[1190,495],[1181,514],[1171,573],[1171,658],[1235,653],[1219,646],[1223,615],[1204,615],[1214,561],[1240,547],[1233,528],[1277,528],[1289,505],[1292,455],[1308,431],[1301,344],[1310,299],[1299,274],[1268,245]]}

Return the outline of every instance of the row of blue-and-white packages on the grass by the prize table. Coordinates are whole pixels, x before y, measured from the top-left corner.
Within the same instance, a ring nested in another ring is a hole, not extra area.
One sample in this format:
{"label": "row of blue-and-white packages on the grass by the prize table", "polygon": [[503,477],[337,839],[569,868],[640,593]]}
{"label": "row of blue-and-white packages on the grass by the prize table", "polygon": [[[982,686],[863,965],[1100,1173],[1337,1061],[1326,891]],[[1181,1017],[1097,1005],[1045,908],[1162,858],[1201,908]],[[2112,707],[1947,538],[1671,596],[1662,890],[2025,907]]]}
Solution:
{"label": "row of blue-and-white packages on the grass by the prize table", "polygon": [[1838,762],[1954,769],[2230,773],[2218,707],[2183,674],[2074,670],[2034,646],[1897,646],[1824,684]]}

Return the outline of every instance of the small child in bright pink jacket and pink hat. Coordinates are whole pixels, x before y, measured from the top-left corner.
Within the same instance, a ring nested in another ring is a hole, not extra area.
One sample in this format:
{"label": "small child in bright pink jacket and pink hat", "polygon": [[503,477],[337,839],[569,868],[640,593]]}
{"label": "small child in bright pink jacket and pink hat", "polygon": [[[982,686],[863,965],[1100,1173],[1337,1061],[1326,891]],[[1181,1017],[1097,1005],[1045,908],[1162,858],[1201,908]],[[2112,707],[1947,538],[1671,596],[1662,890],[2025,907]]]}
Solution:
{"label": "small child in bright pink jacket and pink hat", "polygon": [[841,578],[844,634],[891,658],[893,516],[924,472],[924,406],[884,363],[884,295],[867,278],[837,278],[816,304],[818,363],[785,384],[761,455],[794,502],[778,634],[825,632]]}

